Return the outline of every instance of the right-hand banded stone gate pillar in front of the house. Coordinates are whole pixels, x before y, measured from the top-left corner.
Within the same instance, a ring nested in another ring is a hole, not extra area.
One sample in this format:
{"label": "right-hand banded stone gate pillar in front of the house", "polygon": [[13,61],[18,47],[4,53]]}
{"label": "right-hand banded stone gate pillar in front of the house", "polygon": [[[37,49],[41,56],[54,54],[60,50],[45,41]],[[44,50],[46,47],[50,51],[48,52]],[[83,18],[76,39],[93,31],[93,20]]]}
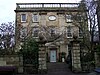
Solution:
{"label": "right-hand banded stone gate pillar in front of the house", "polygon": [[80,44],[78,40],[71,41],[72,44],[72,71],[81,72],[81,61],[80,61]]}

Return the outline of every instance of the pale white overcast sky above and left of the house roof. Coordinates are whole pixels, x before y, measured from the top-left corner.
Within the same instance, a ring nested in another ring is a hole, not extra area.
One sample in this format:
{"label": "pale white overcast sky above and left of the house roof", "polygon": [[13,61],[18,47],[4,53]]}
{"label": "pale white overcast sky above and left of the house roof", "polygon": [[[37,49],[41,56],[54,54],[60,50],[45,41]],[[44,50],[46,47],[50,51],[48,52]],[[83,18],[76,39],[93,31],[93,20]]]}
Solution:
{"label": "pale white overcast sky above and left of the house roof", "polygon": [[0,24],[15,21],[16,3],[78,3],[81,0],[0,0]]}

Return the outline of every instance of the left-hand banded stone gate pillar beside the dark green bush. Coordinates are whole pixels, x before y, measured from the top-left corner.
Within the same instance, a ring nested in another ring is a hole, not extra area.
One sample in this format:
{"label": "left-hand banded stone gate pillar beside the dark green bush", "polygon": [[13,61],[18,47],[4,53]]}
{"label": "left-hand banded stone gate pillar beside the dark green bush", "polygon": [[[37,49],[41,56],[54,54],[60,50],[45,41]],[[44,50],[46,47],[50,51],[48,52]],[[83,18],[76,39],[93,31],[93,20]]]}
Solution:
{"label": "left-hand banded stone gate pillar beside the dark green bush", "polygon": [[47,71],[46,64],[46,46],[44,42],[39,42],[39,73]]}

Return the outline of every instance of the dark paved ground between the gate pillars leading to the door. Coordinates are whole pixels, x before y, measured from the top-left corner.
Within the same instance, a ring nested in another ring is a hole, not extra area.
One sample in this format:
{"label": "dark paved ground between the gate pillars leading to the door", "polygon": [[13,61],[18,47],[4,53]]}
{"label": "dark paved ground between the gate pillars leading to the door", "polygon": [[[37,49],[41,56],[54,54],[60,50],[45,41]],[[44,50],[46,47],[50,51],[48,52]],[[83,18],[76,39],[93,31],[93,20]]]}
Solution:
{"label": "dark paved ground between the gate pillars leading to the door", "polygon": [[[24,74],[24,75],[87,75],[87,73],[73,73],[66,63],[47,63],[47,74]],[[22,74],[18,74],[22,75]]]}

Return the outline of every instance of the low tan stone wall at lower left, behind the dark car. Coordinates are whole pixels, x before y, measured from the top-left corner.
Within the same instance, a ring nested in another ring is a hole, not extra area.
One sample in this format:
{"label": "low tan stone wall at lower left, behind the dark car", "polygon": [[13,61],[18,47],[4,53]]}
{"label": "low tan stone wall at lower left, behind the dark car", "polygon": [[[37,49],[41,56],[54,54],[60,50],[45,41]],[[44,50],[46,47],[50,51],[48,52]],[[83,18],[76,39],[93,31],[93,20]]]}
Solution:
{"label": "low tan stone wall at lower left, behind the dark car", "polygon": [[18,73],[23,73],[23,57],[18,55],[1,55],[0,66],[14,66]]}

